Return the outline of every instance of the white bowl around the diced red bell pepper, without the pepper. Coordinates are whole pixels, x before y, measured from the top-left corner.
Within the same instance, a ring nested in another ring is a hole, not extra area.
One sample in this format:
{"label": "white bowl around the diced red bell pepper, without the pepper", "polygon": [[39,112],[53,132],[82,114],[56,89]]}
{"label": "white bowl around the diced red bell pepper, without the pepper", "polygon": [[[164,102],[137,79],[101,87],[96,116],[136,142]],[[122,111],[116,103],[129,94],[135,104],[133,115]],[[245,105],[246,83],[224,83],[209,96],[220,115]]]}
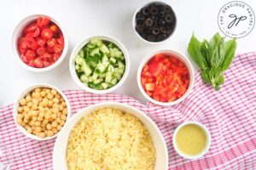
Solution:
{"label": "white bowl around the diced red bell pepper, without the pepper", "polygon": [[[142,75],[142,71],[143,71],[143,66],[146,65],[148,63],[148,61],[154,57],[155,54],[166,54],[166,55],[175,56],[175,57],[177,57],[177,59],[181,60],[184,63],[184,65],[187,66],[187,68],[189,70],[189,88],[187,89],[186,93],[183,94],[183,96],[181,98],[174,100],[172,102],[160,102],[153,98],[150,98],[148,96],[148,94],[145,93],[142,83],[141,83],[141,75]],[[141,61],[140,65],[138,67],[138,70],[137,70],[137,85],[138,85],[140,91],[142,92],[143,96],[146,99],[148,99],[149,101],[151,101],[152,103],[154,103],[156,105],[170,106],[170,105],[176,105],[176,104],[182,102],[183,99],[185,99],[189,95],[191,89],[193,88],[194,79],[195,79],[194,71],[193,71],[193,67],[192,67],[189,59],[185,58],[183,54],[179,54],[172,50],[160,50],[160,51],[155,52],[154,54],[148,55]]]}

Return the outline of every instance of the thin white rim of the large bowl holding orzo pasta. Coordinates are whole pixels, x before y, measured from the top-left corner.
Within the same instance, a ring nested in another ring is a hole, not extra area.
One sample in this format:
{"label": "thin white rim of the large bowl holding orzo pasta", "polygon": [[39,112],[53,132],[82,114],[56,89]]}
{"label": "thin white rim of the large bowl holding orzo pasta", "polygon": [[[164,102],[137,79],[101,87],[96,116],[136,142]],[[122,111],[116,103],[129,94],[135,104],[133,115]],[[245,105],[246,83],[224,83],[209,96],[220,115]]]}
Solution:
{"label": "thin white rim of the large bowl holding orzo pasta", "polygon": [[[110,105],[110,106],[109,106]],[[72,116],[69,120],[68,120],[68,122],[67,122],[67,126],[65,127],[65,129],[64,130],[67,130],[67,128],[68,128],[68,124],[69,123],[71,123],[71,122],[75,122],[75,121],[73,121],[73,120],[75,120],[75,119],[77,119],[77,117],[79,117],[84,111],[88,111],[88,110],[92,110],[92,111],[95,111],[95,110],[97,110],[98,108],[97,107],[112,107],[112,108],[115,108],[115,106],[117,107],[117,108],[119,108],[119,107],[122,107],[122,108],[124,108],[125,109],[125,107],[126,108],[129,108],[131,111],[135,111],[136,112],[136,114],[132,114],[133,116],[136,116],[136,115],[138,115],[138,116],[143,116],[146,120],[147,120],[147,122],[149,122],[149,124],[151,125],[151,126],[153,126],[154,127],[154,130],[157,132],[157,134],[159,135],[159,137],[160,137],[160,142],[162,143],[162,145],[164,146],[164,152],[165,152],[165,157],[166,157],[166,163],[165,163],[165,170],[167,170],[168,169],[168,164],[169,164],[169,162],[168,162],[168,150],[167,150],[167,146],[166,146],[166,140],[164,139],[164,137],[163,137],[163,134],[160,132],[160,128],[156,125],[156,123],[149,117],[149,116],[147,116],[143,111],[140,111],[139,109],[137,109],[136,107],[134,107],[134,106],[131,106],[131,105],[127,105],[127,104],[124,104],[124,103],[119,103],[119,102],[114,102],[114,101],[105,101],[105,102],[101,102],[101,103],[98,103],[98,104],[95,104],[95,105],[89,105],[89,106],[87,106],[87,107],[84,107],[83,109],[81,109],[81,110],[79,110],[74,116]],[[124,110],[123,110],[124,111]],[[89,115],[91,113],[91,111],[90,112],[88,112],[88,113],[85,113],[84,115]],[[84,116],[83,115],[83,116]],[[139,120],[141,120],[141,118],[139,118],[138,116],[136,116]],[[80,119],[79,119],[80,120]],[[75,122],[75,124],[73,125],[73,127],[79,122],[79,120],[77,121],[77,122]],[[142,121],[143,122],[143,121]],[[72,127],[72,128],[73,128]],[[71,129],[72,130],[72,129]],[[70,130],[70,132],[71,132],[71,130]],[[148,132],[149,132],[149,130],[148,130]],[[65,131],[63,131],[63,133],[65,133]],[[152,136],[152,133],[151,132],[149,132],[150,133],[150,135]],[[63,138],[62,137],[62,132],[61,132],[61,134],[60,134],[60,136],[58,136],[57,137],[57,139],[55,140],[55,146],[54,146],[54,150],[53,150],[53,156],[52,156],[52,161],[53,161],[53,167],[54,167],[54,169],[56,169],[55,168],[55,159],[56,159],[56,157],[58,157],[57,156],[57,151],[59,151],[59,150],[57,150],[57,148],[56,148],[56,145],[57,144],[59,144],[60,142],[61,142],[61,148],[63,147],[63,141],[60,139],[60,138]],[[68,134],[68,136],[69,136],[69,134]],[[68,138],[67,138],[68,139]],[[61,140],[61,141],[60,141]],[[159,143],[158,143],[159,144]],[[65,144],[66,145],[66,144]],[[156,144],[154,143],[154,146],[155,146]],[[67,150],[67,149],[65,149],[65,150]],[[60,162],[58,162],[58,164],[60,164]]]}

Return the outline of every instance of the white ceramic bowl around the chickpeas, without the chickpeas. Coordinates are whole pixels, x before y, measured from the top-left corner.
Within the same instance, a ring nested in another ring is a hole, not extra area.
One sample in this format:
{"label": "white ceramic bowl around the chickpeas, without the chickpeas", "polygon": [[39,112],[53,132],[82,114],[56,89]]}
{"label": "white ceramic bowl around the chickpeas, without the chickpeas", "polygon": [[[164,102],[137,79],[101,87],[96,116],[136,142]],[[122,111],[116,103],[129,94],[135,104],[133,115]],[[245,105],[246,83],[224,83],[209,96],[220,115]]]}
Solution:
{"label": "white ceramic bowl around the chickpeas, without the chickpeas", "polygon": [[55,88],[55,87],[52,86],[52,85],[44,84],[44,83],[42,83],[42,84],[35,84],[35,85],[32,85],[32,86],[29,87],[29,88],[26,88],[26,89],[20,94],[20,96],[18,97],[18,99],[17,99],[16,102],[15,102],[14,111],[13,111],[13,116],[14,116],[14,120],[15,120],[15,125],[16,125],[16,127],[18,127],[18,129],[20,130],[20,132],[23,133],[23,134],[25,134],[26,137],[28,137],[28,138],[36,139],[36,140],[54,139],[54,138],[58,135],[58,133],[60,133],[60,132],[62,131],[62,128],[66,125],[67,120],[66,120],[66,122],[65,122],[65,125],[61,128],[61,130],[60,130],[58,133],[55,133],[54,136],[46,137],[46,138],[44,138],[44,139],[39,138],[38,136],[36,136],[36,135],[34,135],[34,134],[32,134],[32,133],[28,133],[28,132],[26,131],[26,129],[25,129],[24,127],[20,126],[20,125],[17,123],[17,121],[16,121],[16,118],[17,118],[17,115],[18,115],[18,108],[19,108],[19,105],[20,105],[20,103],[19,103],[20,99],[24,98],[24,97],[26,96],[26,94],[30,93],[30,92],[31,92],[33,89],[35,89],[35,88],[51,88],[51,89],[55,89],[59,94],[61,94],[61,97],[62,97],[62,98],[65,100],[65,102],[66,102],[66,105],[67,105],[67,120],[68,120],[68,118],[71,116],[71,106],[70,106],[70,104],[69,104],[69,101],[68,101],[66,95],[63,94],[59,88]]}

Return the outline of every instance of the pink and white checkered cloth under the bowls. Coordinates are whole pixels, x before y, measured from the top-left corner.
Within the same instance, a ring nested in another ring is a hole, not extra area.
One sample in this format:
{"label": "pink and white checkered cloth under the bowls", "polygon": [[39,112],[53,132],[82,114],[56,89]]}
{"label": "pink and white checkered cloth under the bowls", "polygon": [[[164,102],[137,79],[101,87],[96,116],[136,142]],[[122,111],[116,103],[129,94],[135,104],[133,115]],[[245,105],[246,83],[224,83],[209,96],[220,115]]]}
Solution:
{"label": "pink and white checkered cloth under the bowls", "polygon": [[[81,108],[103,101],[116,101],[137,107],[160,127],[169,151],[169,169],[256,169],[256,54],[241,54],[225,73],[224,87],[216,92],[195,74],[195,87],[189,97],[172,107],[143,105],[120,95],[93,95],[79,90],[65,94],[75,114]],[[9,155],[10,169],[52,169],[55,139],[37,141],[26,138],[15,127],[13,105],[0,108],[0,140]],[[174,129],[186,120],[206,125],[212,134],[207,155],[195,161],[178,156],[172,146]],[[1,146],[1,144],[0,144]]]}

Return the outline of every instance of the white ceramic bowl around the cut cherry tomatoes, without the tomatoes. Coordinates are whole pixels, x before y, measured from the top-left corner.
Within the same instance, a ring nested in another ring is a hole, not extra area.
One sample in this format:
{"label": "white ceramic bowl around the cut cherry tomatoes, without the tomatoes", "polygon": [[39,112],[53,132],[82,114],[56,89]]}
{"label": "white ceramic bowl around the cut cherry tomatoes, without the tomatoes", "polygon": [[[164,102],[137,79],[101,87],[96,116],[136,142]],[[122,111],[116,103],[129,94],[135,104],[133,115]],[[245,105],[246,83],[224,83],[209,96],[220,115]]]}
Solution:
{"label": "white ceramic bowl around the cut cherry tomatoes, without the tomatoes", "polygon": [[[64,37],[64,48],[62,51],[62,54],[60,56],[60,58],[53,64],[53,65],[49,65],[48,67],[45,68],[36,68],[36,67],[32,67],[29,65],[26,65],[21,59],[20,59],[20,52],[19,52],[19,48],[18,48],[18,38],[20,37],[23,29],[30,24],[32,21],[37,20],[38,17],[48,17],[49,20],[53,21],[57,26],[59,26],[59,28],[62,31],[63,37]],[[15,54],[15,58],[17,59],[18,63],[25,68],[28,71],[33,71],[33,72],[45,72],[45,71],[51,71],[53,70],[56,66],[60,65],[61,62],[65,59],[66,55],[67,55],[67,50],[68,50],[68,40],[67,40],[67,32],[66,30],[64,30],[63,27],[61,27],[60,23],[53,19],[52,17],[45,15],[45,14],[33,14],[33,15],[29,15],[27,16],[25,19],[21,20],[20,23],[15,27],[15,31],[13,32],[12,35],[12,49],[13,49],[13,53]]]}

